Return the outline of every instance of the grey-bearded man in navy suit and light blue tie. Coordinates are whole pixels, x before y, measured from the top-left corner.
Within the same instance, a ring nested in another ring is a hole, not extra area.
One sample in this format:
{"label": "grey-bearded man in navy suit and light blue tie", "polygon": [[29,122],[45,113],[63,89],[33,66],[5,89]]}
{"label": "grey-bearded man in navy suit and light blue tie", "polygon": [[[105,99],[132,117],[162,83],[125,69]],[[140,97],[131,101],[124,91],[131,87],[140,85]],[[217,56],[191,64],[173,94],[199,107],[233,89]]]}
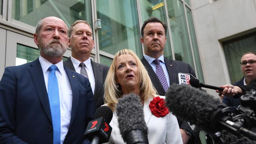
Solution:
{"label": "grey-bearded man in navy suit and light blue tie", "polygon": [[95,103],[89,80],[63,66],[67,25],[43,18],[33,37],[39,58],[7,67],[0,81],[0,143],[81,143]]}

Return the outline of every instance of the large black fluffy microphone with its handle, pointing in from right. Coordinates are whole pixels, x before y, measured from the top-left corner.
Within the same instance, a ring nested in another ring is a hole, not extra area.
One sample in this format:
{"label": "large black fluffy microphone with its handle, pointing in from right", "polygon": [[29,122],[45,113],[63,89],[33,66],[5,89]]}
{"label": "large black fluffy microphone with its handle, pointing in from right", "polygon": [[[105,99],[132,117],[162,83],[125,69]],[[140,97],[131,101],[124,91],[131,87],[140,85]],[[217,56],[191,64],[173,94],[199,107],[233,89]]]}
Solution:
{"label": "large black fluffy microphone with its handle, pointing in from right", "polygon": [[171,85],[165,94],[169,111],[195,124],[208,133],[226,129],[235,135],[256,139],[256,133],[245,129],[243,123],[232,122],[223,113],[226,105],[210,94],[189,85]]}

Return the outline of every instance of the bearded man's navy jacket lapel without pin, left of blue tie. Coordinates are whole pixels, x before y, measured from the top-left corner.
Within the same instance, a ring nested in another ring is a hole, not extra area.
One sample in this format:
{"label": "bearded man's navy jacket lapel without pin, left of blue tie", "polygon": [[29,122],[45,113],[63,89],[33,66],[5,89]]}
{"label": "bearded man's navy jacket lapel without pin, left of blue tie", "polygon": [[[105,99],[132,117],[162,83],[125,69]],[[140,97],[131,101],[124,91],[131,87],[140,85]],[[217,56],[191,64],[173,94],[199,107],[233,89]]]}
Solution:
{"label": "bearded man's navy jacket lapel without pin, left of blue tie", "polygon": [[49,120],[52,122],[52,115],[50,110],[50,103],[48,99],[47,90],[45,87],[45,79],[43,76],[43,70],[39,59],[37,58],[31,64],[31,67],[28,69],[30,72],[32,81],[35,85],[35,90],[37,92],[37,96],[42,103],[43,109],[45,110],[46,115],[48,116]]}

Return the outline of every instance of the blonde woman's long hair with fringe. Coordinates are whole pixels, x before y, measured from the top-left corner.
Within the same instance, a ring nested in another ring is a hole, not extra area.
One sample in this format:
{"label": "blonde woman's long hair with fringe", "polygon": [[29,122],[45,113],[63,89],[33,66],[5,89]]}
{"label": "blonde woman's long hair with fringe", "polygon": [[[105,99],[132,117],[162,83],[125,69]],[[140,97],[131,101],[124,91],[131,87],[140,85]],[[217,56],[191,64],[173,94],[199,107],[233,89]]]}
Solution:
{"label": "blonde woman's long hair with fringe", "polygon": [[120,55],[124,55],[124,54],[132,55],[137,63],[138,72],[139,72],[138,76],[140,81],[139,86],[140,86],[141,100],[144,101],[145,99],[151,98],[156,94],[156,89],[152,85],[152,82],[148,76],[148,72],[144,67],[144,65],[141,63],[139,57],[135,54],[135,52],[129,49],[120,50],[114,56],[113,62],[109,67],[108,75],[106,77],[106,81],[104,85],[104,90],[105,90],[104,102],[105,104],[107,103],[107,105],[112,110],[115,110],[115,106],[118,102],[118,98],[122,97],[122,91],[120,87],[119,88],[117,87],[117,83],[116,83],[117,77],[115,73],[115,68],[116,68],[115,64],[117,62],[117,58]]}

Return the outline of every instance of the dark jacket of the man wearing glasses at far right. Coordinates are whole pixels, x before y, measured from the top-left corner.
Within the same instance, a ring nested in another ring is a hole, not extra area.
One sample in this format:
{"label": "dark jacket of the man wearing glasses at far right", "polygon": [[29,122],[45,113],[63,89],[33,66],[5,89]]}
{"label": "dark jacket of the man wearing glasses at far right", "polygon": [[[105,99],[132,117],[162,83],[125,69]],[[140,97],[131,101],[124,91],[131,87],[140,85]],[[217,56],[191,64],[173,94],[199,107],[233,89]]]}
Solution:
{"label": "dark jacket of the man wearing glasses at far right", "polygon": [[[243,79],[240,79],[236,83],[233,83],[232,85],[241,86],[244,85]],[[232,96],[224,96],[223,103],[225,103],[228,107],[238,107],[240,105],[239,98],[233,98]]]}

